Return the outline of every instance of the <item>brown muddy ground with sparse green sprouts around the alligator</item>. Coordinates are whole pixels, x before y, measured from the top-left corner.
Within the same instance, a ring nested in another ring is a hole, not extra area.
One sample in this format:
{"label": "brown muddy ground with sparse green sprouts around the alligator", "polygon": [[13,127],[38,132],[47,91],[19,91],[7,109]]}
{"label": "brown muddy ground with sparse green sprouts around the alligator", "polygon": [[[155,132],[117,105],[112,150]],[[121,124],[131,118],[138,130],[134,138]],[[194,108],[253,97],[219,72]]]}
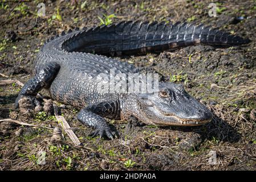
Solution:
{"label": "brown muddy ground with sparse green sprouts around the alligator", "polygon": [[[144,71],[158,72],[164,81],[183,82],[186,90],[214,113],[200,127],[140,126],[133,118],[109,121],[120,138],[88,137],[91,129],[76,119],[78,110],[58,104],[82,146],[64,140],[52,143],[52,129],[0,122],[1,170],[255,170],[256,169],[256,2],[220,1],[217,17],[208,15],[211,1],[1,1],[0,80],[26,82],[44,41],[75,27],[100,24],[100,16],[120,20],[188,21],[220,27],[249,38],[241,47],[195,46],[145,56],[117,57]],[[239,16],[243,20],[239,20]],[[104,19],[105,20],[105,19]],[[14,109],[21,86],[0,85],[0,119],[58,127],[55,117]],[[48,96],[46,90],[40,92]],[[45,164],[39,164],[46,154]],[[209,158],[216,152],[216,163]]]}

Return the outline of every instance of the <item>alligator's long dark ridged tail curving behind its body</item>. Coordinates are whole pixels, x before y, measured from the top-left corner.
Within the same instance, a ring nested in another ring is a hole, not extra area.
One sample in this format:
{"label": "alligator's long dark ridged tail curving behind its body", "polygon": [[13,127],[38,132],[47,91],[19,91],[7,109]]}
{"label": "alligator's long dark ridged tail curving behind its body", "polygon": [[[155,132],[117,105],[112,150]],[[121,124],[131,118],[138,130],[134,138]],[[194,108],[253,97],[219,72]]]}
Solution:
{"label": "alligator's long dark ridged tail curving behind its body", "polygon": [[68,52],[119,56],[160,52],[197,44],[236,46],[249,42],[249,39],[204,24],[129,21],[78,31],[62,44],[62,48]]}

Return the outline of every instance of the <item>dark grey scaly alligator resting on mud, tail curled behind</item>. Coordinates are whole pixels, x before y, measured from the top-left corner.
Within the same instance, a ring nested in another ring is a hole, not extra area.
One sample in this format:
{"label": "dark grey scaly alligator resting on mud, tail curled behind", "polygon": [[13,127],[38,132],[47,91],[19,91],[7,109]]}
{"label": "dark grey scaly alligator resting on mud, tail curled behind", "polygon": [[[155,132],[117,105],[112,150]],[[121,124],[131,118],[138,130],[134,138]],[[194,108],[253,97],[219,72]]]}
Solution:
{"label": "dark grey scaly alligator resting on mud, tail curled behind", "polygon": [[[213,114],[181,84],[159,82],[157,93],[98,92],[96,88],[104,80],[99,79],[100,73],[109,75],[110,80],[118,73],[125,76],[139,73],[134,65],[106,55],[138,55],[196,44],[233,46],[248,42],[249,39],[193,23],[128,21],[83,30],[76,28],[51,38],[40,49],[34,62],[34,77],[19,92],[15,107],[21,97],[35,100],[36,94],[47,88],[54,100],[81,109],[78,120],[95,129],[92,137],[100,135],[109,139],[115,134],[104,118],[118,120],[132,115],[157,126],[203,125]],[[110,88],[115,85],[110,84]]]}

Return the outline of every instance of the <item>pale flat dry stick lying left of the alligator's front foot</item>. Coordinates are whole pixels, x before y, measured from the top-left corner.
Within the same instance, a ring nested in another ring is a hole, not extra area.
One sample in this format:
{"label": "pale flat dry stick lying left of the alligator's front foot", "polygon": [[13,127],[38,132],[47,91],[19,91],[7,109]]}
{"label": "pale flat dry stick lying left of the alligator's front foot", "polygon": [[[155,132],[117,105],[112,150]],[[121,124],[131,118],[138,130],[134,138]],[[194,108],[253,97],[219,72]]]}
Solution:
{"label": "pale flat dry stick lying left of the alligator's front foot", "polygon": [[79,141],[78,137],[76,137],[74,131],[72,131],[70,128],[70,125],[68,125],[68,122],[62,115],[58,115],[57,106],[54,105],[54,115],[59,123],[59,126],[63,128],[63,130],[67,133],[68,137],[72,140],[72,142],[76,146],[80,146],[81,142]]}

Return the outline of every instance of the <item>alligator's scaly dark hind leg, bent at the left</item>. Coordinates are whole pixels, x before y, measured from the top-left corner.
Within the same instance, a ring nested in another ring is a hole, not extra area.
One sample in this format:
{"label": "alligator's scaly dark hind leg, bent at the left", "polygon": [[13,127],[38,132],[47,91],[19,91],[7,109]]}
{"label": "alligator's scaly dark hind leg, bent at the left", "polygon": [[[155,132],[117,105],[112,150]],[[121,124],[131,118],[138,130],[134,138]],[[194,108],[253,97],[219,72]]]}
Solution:
{"label": "alligator's scaly dark hind leg, bent at the left", "polygon": [[[18,101],[22,96],[35,98],[36,94],[44,88],[44,86],[49,85],[59,71],[59,64],[48,63],[43,65],[43,67],[23,86],[19,92],[18,97],[15,100],[15,108],[19,106]],[[36,104],[36,103],[35,103]]]}

